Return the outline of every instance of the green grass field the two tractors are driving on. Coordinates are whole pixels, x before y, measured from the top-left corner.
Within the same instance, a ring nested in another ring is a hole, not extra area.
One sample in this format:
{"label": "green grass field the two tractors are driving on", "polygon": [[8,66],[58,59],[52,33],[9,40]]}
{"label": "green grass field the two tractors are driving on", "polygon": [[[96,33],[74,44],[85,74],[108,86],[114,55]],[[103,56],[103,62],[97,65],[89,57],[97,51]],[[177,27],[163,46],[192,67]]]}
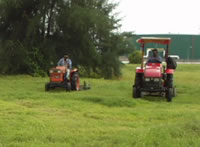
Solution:
{"label": "green grass field the two tractors are driving on", "polygon": [[45,92],[48,77],[0,76],[0,147],[199,147],[200,65],[178,65],[171,103],[133,99],[135,67],[70,93]]}

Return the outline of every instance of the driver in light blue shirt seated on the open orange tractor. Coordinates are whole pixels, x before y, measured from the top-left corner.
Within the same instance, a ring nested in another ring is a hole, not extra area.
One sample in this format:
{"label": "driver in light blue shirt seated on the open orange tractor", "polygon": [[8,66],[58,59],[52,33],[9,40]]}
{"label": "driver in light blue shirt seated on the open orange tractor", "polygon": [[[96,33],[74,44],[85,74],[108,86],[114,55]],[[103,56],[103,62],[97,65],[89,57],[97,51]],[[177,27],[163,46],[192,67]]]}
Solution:
{"label": "driver in light blue shirt seated on the open orange tractor", "polygon": [[69,56],[64,55],[64,57],[58,61],[58,66],[66,67],[66,79],[69,80],[70,70],[72,69],[72,61]]}

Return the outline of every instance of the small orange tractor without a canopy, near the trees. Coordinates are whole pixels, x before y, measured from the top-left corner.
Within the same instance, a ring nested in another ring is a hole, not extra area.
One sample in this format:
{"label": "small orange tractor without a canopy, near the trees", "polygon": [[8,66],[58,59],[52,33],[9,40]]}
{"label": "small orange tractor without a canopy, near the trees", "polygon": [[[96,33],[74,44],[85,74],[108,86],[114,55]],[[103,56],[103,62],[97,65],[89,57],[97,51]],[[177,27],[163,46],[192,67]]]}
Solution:
{"label": "small orange tractor without a canopy, near the trees", "polygon": [[69,79],[66,78],[66,67],[57,66],[49,70],[50,82],[45,84],[45,91],[55,89],[56,87],[65,88],[66,91],[80,90],[80,79],[78,69],[70,71]]}

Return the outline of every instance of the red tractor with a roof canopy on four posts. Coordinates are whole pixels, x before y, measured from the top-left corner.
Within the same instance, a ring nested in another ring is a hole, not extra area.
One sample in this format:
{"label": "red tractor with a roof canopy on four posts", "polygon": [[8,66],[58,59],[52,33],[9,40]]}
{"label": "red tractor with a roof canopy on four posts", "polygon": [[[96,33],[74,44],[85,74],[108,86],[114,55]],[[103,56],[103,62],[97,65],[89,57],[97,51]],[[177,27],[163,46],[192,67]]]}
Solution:
{"label": "red tractor with a roof canopy on four posts", "polygon": [[[142,93],[159,93],[165,94],[167,101],[171,102],[172,97],[176,95],[176,89],[173,85],[173,74],[176,68],[176,62],[168,56],[171,39],[141,37],[137,42],[141,44],[142,48],[142,63],[141,67],[136,68],[133,97],[140,98]],[[162,63],[144,64],[145,45],[149,43],[166,45],[166,67]]]}

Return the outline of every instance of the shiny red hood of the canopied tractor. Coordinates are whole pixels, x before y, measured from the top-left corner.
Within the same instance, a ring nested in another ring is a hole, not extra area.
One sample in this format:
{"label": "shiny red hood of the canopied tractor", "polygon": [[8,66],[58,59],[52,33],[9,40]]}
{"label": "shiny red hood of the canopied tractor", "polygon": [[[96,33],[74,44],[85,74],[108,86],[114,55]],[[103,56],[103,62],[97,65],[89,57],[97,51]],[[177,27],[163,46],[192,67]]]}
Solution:
{"label": "shiny red hood of the canopied tractor", "polygon": [[161,64],[150,64],[145,67],[144,77],[162,77],[162,66]]}

